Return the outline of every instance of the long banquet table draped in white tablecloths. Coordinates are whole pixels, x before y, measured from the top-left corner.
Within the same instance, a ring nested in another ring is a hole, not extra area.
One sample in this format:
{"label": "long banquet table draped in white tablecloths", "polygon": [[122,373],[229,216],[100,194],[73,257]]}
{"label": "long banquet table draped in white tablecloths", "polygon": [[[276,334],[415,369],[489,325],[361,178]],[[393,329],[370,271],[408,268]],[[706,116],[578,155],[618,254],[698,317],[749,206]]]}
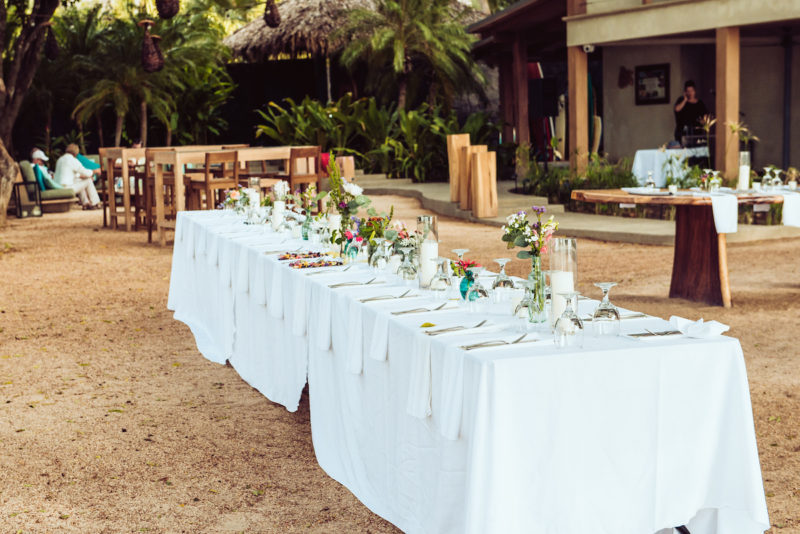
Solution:
{"label": "long banquet table draped in white tablecloths", "polygon": [[[322,468],[406,532],[692,534],[769,528],[738,340],[548,336],[510,317],[362,303],[409,289],[366,266],[308,276],[272,254],[304,242],[226,212],[178,214],[168,307],[209,360],[289,411],[308,380]],[[307,244],[307,242],[305,242]],[[590,314],[596,301],[583,300]],[[453,304],[455,306],[455,304]],[[489,328],[427,336],[489,320]],[[492,327],[494,325],[494,327]],[[656,317],[623,332],[664,330]],[[536,334],[530,336],[536,338]],[[268,434],[269,428],[264,428]]]}

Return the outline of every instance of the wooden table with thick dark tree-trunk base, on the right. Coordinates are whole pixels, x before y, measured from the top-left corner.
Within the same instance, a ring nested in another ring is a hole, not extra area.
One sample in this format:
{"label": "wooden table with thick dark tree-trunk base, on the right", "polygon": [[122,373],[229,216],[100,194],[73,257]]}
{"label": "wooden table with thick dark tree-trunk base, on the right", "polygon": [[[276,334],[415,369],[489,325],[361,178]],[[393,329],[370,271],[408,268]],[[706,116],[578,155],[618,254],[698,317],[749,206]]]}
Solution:
{"label": "wooden table with thick dark tree-trunk base, on the right", "polygon": [[[726,234],[714,225],[711,198],[688,191],[652,195],[631,194],[620,189],[576,189],[572,199],[602,204],[651,204],[675,206],[675,252],[672,260],[670,298],[685,298],[731,307]],[[730,193],[733,194],[733,193]],[[739,204],[780,204],[781,195],[737,194]]]}

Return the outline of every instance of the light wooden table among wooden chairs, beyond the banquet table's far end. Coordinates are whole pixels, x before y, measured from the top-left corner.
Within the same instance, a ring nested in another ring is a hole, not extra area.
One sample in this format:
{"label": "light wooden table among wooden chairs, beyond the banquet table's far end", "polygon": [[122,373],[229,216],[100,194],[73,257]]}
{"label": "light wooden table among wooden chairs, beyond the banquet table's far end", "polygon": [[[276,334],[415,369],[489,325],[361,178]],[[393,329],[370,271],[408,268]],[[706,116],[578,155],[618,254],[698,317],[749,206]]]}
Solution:
{"label": "light wooden table among wooden chairs, beyond the banquet table's far end", "polygon": [[166,245],[167,229],[175,229],[175,221],[167,218],[166,202],[164,198],[164,171],[166,166],[172,166],[173,173],[173,196],[175,213],[186,209],[186,188],[184,185],[184,174],[186,165],[203,165],[206,154],[209,152],[220,152],[236,150],[240,164],[247,165],[251,161],[283,161],[288,168],[291,157],[291,146],[279,147],[214,147],[190,149],[176,148],[175,150],[157,150],[150,155],[154,165],[155,188],[154,200],[156,206],[156,229],[158,232],[158,242]]}

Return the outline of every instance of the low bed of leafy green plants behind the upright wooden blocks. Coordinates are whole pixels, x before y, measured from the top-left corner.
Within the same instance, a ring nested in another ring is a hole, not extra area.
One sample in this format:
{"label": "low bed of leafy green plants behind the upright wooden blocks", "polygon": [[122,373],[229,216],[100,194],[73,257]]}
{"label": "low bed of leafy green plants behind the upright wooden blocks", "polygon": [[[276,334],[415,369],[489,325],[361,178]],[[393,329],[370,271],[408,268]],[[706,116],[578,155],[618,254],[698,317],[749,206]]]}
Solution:
{"label": "low bed of leafy green plants behind the upright wooden blocks", "polygon": [[463,123],[455,113],[423,104],[418,109],[379,106],[374,98],[354,100],[350,94],[323,104],[306,97],[287,99],[257,110],[264,124],[256,136],[282,145],[319,145],[325,152],[354,155],[373,173],[408,177],[418,182],[447,176],[447,136],[469,133],[473,144],[488,144],[498,132],[484,113]]}

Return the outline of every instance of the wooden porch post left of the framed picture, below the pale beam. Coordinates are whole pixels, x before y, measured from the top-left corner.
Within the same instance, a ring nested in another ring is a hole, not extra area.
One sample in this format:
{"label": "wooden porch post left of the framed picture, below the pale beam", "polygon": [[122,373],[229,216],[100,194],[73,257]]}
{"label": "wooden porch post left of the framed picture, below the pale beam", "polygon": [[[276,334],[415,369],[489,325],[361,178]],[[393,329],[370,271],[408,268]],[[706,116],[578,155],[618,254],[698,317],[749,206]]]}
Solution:
{"label": "wooden porch post left of the framed picture, below the pale beam", "polygon": [[569,145],[566,155],[569,166],[578,174],[589,163],[589,70],[586,52],[580,46],[567,49],[569,101]]}

